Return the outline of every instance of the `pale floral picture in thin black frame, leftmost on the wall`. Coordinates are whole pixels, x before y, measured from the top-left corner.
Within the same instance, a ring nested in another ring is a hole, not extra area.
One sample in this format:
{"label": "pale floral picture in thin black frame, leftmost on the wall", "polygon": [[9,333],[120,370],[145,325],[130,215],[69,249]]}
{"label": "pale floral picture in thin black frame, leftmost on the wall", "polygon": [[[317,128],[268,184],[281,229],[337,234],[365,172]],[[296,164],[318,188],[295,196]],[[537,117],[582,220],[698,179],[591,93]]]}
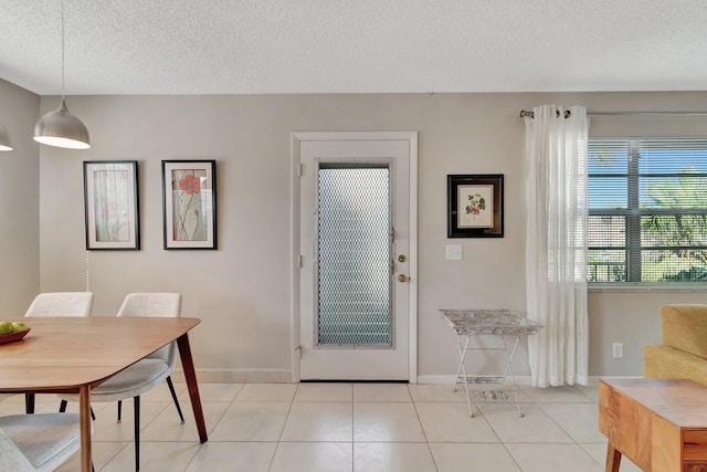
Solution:
{"label": "pale floral picture in thin black frame, leftmost on the wall", "polygon": [[137,160],[84,161],[87,250],[140,249]]}

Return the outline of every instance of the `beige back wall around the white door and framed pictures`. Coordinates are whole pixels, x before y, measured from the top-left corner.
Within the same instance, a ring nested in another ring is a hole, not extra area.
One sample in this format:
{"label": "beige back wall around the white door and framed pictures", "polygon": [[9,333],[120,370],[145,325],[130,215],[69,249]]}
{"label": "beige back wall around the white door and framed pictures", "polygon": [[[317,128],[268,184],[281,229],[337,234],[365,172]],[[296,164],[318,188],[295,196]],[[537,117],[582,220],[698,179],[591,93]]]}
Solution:
{"label": "beige back wall around the white door and framed pictures", "polygon": [[[56,106],[43,97],[42,111]],[[289,378],[292,132],[419,132],[419,375],[456,368],[443,307],[524,310],[521,108],[707,109],[705,93],[81,96],[68,107],[93,147],[42,147],[41,290],[85,290],[83,160],[139,161],[143,249],[88,254],[94,312],[113,315],[134,291],[178,291],[202,378]],[[592,135],[704,135],[707,118],[594,118]],[[163,251],[160,160],[217,159],[219,250]],[[505,238],[446,238],[446,175],[506,176]],[[3,203],[2,203],[3,204]],[[463,261],[446,261],[446,243]],[[4,241],[3,241],[4,244]],[[590,375],[641,375],[641,346],[658,339],[657,307],[704,292],[592,292]],[[611,343],[625,344],[623,359]],[[527,375],[525,345],[516,373]],[[249,374],[244,377],[243,373]],[[255,375],[257,374],[257,375]]]}

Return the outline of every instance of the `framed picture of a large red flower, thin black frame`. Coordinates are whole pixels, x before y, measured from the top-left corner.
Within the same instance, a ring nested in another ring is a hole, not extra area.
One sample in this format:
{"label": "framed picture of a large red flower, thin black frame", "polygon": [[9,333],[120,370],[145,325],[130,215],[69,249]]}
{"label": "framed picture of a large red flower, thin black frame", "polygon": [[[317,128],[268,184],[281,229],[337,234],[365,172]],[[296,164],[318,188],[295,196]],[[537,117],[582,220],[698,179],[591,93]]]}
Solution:
{"label": "framed picture of a large red flower, thin black frame", "polygon": [[217,249],[215,160],[162,160],[165,249]]}

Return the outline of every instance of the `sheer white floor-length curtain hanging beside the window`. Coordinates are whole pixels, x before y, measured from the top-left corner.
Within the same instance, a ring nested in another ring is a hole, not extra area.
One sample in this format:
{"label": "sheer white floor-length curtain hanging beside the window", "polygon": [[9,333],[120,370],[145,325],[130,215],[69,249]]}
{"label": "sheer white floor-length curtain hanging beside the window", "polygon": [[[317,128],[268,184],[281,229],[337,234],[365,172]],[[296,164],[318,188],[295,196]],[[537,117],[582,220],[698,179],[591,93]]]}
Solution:
{"label": "sheer white floor-length curtain hanging beside the window", "polygon": [[587,109],[542,105],[526,117],[526,302],[536,387],[587,385]]}

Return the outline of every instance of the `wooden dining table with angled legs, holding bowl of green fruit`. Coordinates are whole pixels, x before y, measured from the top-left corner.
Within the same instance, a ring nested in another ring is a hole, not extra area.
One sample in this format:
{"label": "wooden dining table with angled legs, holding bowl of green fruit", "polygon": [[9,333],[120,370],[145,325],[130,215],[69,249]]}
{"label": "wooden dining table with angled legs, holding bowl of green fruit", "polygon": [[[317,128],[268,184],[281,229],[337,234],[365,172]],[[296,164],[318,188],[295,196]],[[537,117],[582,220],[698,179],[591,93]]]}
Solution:
{"label": "wooden dining table with angled legs, holding bowl of green fruit", "polygon": [[81,470],[92,469],[91,389],[159,348],[177,340],[200,442],[207,427],[188,333],[190,317],[18,318],[30,332],[0,345],[0,392],[78,394]]}

